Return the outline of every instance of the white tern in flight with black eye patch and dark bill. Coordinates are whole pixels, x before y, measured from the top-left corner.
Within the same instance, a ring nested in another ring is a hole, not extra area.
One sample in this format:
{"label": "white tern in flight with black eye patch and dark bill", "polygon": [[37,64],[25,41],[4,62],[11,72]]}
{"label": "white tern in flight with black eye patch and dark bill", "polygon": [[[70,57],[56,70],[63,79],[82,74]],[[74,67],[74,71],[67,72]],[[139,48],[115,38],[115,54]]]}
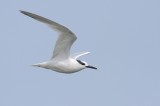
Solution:
{"label": "white tern in flight with black eye patch and dark bill", "polygon": [[54,70],[60,73],[74,73],[85,68],[97,69],[96,67],[90,66],[85,61],[78,60],[79,57],[89,54],[90,52],[81,52],[73,55],[70,54],[70,48],[77,39],[76,35],[71,30],[42,16],[21,10],[20,12],[47,24],[59,33],[52,58],[48,61],[34,64],[33,66]]}

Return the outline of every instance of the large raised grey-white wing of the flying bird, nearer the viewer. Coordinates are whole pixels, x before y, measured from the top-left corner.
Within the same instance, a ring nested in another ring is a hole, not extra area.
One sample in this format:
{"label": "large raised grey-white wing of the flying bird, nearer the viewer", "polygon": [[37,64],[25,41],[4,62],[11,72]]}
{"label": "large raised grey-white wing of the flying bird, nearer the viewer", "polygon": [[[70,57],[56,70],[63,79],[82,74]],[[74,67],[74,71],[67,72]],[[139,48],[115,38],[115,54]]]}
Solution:
{"label": "large raised grey-white wing of the flying bird, nearer the viewer", "polygon": [[47,24],[48,26],[50,26],[59,33],[59,37],[56,42],[52,58],[65,59],[70,56],[70,48],[73,42],[77,39],[76,35],[71,30],[69,30],[63,25],[60,25],[42,16],[29,13],[26,11],[21,11],[21,13]]}

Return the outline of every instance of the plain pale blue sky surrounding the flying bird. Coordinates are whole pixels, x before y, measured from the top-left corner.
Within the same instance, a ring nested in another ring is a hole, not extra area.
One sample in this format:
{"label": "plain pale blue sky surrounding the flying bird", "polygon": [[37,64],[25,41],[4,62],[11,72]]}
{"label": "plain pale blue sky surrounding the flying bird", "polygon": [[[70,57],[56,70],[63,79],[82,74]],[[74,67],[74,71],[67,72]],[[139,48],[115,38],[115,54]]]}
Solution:
{"label": "plain pale blue sky surrounding the flying bird", "polygon": [[[70,28],[98,70],[31,67],[57,33],[19,10]],[[160,106],[159,0],[1,0],[0,29],[0,106]]]}

